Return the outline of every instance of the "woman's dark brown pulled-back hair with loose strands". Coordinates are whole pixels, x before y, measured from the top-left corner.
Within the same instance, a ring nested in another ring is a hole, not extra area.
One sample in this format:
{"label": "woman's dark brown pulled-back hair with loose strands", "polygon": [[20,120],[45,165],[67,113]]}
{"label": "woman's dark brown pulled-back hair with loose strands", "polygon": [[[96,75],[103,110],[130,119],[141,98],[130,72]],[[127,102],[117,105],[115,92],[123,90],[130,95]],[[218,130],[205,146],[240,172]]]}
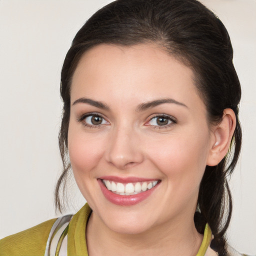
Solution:
{"label": "woman's dark brown pulled-back hair with loose strands", "polygon": [[65,191],[66,176],[71,169],[67,133],[72,75],[83,53],[101,43],[162,46],[193,70],[209,122],[220,121],[225,108],[234,111],[236,127],[229,151],[218,165],[206,166],[198,194],[200,212],[194,215],[197,230],[203,233],[207,222],[214,235],[212,244],[219,255],[226,255],[224,233],[232,210],[227,177],[236,165],[241,147],[238,120],[241,89],[232,63],[229,35],[222,22],[197,0],[116,0],[94,13],[77,32],[61,71],[63,109],[59,148],[63,170],[55,188],[56,209],[63,208],[59,193]]}

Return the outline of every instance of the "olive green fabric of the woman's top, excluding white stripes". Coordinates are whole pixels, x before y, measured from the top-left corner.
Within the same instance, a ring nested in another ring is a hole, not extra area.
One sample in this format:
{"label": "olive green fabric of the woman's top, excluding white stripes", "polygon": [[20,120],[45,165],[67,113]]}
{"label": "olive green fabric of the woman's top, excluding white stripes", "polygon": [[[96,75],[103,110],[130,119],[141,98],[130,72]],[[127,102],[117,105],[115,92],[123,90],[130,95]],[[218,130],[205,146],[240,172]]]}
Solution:
{"label": "olive green fabric of the woman's top, excluding white stripes", "polygon": [[[85,228],[91,209],[86,203],[71,219],[68,226],[67,256],[88,256]],[[50,229],[56,219],[7,236],[0,240],[0,256],[43,256]],[[211,240],[206,224],[203,240],[196,256],[204,256]]]}

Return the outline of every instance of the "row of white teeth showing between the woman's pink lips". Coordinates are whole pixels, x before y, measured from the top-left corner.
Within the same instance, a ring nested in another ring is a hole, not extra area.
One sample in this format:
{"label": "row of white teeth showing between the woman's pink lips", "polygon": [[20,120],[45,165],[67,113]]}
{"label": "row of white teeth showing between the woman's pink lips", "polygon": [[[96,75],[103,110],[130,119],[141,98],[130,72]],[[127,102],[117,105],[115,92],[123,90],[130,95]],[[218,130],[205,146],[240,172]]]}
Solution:
{"label": "row of white teeth showing between the woman's pink lips", "polygon": [[143,182],[129,182],[129,183],[120,183],[114,182],[111,180],[102,179],[102,182],[109,191],[112,191],[115,194],[120,195],[134,195],[137,193],[144,192],[151,189],[157,184],[157,180],[152,181],[143,181]]}

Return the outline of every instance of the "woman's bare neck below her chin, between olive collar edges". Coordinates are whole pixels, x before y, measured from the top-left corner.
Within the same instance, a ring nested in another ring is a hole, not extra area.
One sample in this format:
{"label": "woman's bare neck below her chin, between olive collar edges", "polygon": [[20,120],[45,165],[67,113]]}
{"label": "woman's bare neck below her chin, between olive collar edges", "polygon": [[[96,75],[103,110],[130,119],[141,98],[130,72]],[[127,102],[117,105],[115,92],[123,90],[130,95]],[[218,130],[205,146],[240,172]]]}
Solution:
{"label": "woman's bare neck below her chin, between olive collar edges", "polygon": [[202,235],[193,218],[178,217],[136,234],[117,233],[109,229],[93,212],[86,227],[89,256],[94,255],[196,255]]}

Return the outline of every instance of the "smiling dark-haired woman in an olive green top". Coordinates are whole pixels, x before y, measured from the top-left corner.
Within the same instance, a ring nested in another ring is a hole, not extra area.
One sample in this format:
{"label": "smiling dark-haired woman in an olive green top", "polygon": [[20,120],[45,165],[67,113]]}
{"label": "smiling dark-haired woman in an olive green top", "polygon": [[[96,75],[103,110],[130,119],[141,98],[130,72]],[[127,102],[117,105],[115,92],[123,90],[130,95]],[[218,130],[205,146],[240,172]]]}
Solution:
{"label": "smiling dark-haired woman in an olive green top", "polygon": [[219,19],[195,0],[112,2],[76,34],[60,90],[56,206],[71,166],[88,204],[4,238],[0,255],[235,255],[240,85]]}

